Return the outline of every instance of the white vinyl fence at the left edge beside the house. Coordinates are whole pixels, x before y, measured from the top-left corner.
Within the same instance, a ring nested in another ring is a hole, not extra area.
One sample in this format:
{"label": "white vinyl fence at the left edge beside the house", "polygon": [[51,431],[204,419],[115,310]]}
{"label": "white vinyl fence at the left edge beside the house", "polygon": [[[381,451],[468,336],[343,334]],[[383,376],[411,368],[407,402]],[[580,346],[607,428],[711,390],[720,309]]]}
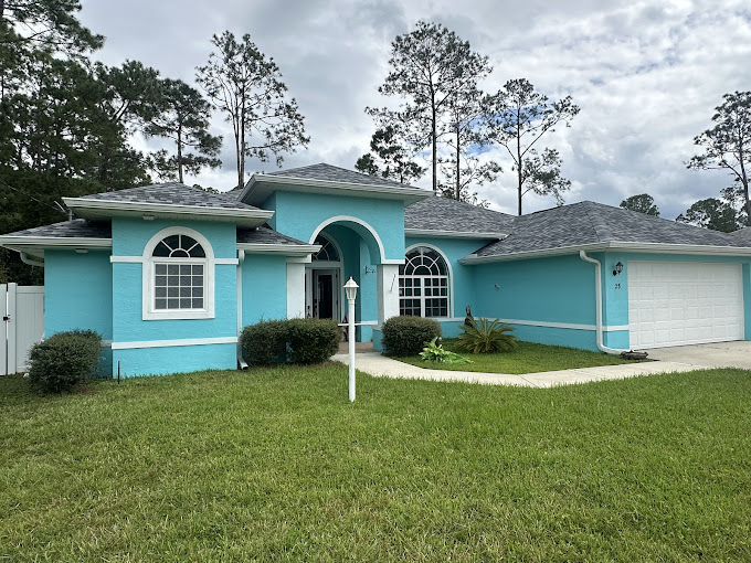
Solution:
{"label": "white vinyl fence at the left edge beside the house", "polygon": [[44,336],[44,288],[0,284],[0,375],[25,371]]}

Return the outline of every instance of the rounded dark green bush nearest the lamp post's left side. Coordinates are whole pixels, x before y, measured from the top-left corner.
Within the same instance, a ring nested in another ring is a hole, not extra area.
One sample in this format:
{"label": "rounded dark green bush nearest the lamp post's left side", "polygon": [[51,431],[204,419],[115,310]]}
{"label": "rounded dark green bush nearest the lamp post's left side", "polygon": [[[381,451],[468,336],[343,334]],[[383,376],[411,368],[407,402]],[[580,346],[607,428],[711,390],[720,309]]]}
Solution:
{"label": "rounded dark green bush nearest the lamp post's left side", "polygon": [[341,328],[331,319],[287,321],[287,343],[292,363],[322,363],[339,349]]}

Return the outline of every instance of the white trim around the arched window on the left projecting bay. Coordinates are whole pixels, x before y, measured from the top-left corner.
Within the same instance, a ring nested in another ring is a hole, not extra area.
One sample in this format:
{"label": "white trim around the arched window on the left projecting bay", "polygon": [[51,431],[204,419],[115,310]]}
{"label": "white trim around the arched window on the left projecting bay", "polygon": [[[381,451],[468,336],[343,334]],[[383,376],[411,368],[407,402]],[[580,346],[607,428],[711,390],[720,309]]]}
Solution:
{"label": "white trim around the arched window on the left projecting bay", "polygon": [[[165,258],[154,257],[154,249],[166,237],[183,234],[194,238],[205,253],[205,258]],[[203,309],[156,309],[155,308],[155,264],[202,264],[203,265]],[[142,255],[142,319],[144,320],[181,320],[214,318],[214,251],[198,231],[182,226],[170,226],[155,234],[144,248]]]}

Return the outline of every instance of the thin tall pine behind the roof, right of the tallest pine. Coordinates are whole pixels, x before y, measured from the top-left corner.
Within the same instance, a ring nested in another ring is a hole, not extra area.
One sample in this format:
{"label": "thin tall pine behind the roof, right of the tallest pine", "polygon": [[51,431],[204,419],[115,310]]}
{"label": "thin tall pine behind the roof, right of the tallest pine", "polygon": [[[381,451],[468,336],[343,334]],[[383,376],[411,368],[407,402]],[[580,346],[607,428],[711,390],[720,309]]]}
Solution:
{"label": "thin tall pine behind the roof, right of the tallest pine", "polygon": [[549,148],[538,152],[536,145],[546,134],[554,131],[556,126],[570,127],[579,106],[571,96],[551,102],[525,78],[508,81],[485,104],[491,108],[488,111],[491,138],[506,149],[514,162],[519,215],[521,200],[530,191],[552,195],[562,204],[562,193],[570,189],[571,182],[561,176],[560,155]]}

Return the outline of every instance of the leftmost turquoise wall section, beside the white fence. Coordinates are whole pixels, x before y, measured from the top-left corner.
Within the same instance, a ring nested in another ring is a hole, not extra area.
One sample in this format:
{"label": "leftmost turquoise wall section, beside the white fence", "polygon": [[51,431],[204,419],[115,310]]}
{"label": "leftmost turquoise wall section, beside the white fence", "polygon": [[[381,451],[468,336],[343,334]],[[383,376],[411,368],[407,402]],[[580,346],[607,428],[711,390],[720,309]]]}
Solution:
{"label": "leftmost turquoise wall section, beside the white fence", "polygon": [[44,333],[76,328],[113,338],[113,269],[109,253],[44,253]]}

